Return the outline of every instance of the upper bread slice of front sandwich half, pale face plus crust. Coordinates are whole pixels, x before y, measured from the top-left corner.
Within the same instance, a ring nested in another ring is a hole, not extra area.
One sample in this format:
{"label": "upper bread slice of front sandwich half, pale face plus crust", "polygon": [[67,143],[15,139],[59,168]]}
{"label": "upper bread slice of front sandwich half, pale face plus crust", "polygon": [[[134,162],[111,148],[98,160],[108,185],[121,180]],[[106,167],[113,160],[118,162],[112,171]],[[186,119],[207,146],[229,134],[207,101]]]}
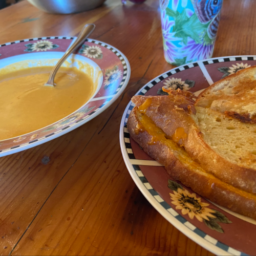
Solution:
{"label": "upper bread slice of front sandwich half, pale face plus crust", "polygon": [[[188,155],[200,163],[206,172],[229,185],[256,194],[256,156],[253,151],[255,145],[250,144],[256,138],[254,125],[229,120],[224,114],[210,109],[198,107],[195,114],[193,102],[184,96],[178,100],[172,95],[134,96],[132,101],[169,138],[174,138],[177,143],[183,145]],[[205,118],[207,119],[203,120]],[[240,125],[244,125],[242,132]],[[181,128],[184,130],[177,134]],[[248,142],[245,142],[245,138]],[[246,143],[250,147],[246,147]],[[237,145],[241,148],[236,147]],[[233,153],[232,150],[239,150],[245,158],[241,157],[237,162],[239,153]]]}

